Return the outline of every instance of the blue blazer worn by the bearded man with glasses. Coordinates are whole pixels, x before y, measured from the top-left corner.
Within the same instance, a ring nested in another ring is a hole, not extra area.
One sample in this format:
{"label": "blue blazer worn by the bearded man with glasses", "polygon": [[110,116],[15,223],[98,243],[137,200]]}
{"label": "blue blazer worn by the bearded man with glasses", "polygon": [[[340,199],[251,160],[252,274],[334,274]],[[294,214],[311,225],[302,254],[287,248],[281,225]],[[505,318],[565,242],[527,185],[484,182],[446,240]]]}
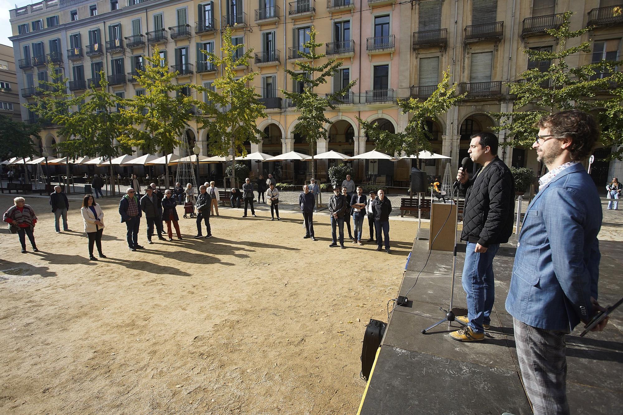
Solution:
{"label": "blue blazer worn by the bearded man with glasses", "polygon": [[573,330],[597,298],[601,201],[581,164],[532,199],[518,239],[506,310],[532,327]]}

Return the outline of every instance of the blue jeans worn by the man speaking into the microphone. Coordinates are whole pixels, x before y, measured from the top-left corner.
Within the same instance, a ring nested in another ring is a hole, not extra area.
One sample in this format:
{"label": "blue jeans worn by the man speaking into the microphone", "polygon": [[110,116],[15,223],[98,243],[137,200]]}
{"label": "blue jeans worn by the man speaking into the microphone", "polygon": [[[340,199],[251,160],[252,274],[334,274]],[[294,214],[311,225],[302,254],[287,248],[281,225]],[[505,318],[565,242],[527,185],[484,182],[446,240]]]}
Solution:
{"label": "blue jeans worn by the man speaking into the microphone", "polygon": [[483,324],[491,323],[491,310],[495,300],[493,257],[500,244],[491,244],[487,252],[473,252],[476,244],[467,242],[463,265],[463,289],[467,294],[467,318],[469,327],[476,333],[484,333]]}

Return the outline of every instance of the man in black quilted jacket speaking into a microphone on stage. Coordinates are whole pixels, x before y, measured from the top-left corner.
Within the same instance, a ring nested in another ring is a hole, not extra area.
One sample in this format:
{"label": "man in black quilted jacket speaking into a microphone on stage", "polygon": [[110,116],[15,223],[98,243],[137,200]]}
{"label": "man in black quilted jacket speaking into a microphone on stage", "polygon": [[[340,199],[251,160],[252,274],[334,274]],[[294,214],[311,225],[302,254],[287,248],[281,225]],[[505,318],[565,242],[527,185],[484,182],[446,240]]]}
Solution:
{"label": "man in black quilted jacket speaking into a microphone on stage", "polygon": [[454,340],[485,338],[495,300],[493,257],[500,244],[513,233],[515,188],[508,166],[498,158],[498,138],[493,133],[475,133],[467,151],[474,163],[482,165],[473,178],[459,169],[457,181],[465,194],[463,232],[467,242],[463,267],[463,289],[467,295],[467,316],[457,317],[467,326],[450,333]]}

